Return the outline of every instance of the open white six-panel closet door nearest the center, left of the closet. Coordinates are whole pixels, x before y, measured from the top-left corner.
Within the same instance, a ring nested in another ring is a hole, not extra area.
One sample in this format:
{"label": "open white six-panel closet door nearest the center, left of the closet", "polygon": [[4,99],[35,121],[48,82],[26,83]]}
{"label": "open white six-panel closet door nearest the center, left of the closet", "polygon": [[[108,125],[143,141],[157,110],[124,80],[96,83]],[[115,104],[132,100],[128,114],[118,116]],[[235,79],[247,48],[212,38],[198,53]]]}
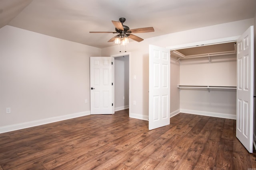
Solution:
{"label": "open white six-panel closet door nearest the center, left of the closet", "polygon": [[170,124],[170,50],[149,46],[148,129]]}

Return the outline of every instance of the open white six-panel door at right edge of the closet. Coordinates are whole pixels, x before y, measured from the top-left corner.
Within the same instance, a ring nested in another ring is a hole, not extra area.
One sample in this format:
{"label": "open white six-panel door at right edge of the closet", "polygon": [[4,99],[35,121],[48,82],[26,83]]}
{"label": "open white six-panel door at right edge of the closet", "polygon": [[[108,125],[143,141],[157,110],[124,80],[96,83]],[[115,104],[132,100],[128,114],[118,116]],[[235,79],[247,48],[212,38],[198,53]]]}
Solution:
{"label": "open white six-panel door at right edge of the closet", "polygon": [[237,40],[236,137],[252,153],[253,26]]}

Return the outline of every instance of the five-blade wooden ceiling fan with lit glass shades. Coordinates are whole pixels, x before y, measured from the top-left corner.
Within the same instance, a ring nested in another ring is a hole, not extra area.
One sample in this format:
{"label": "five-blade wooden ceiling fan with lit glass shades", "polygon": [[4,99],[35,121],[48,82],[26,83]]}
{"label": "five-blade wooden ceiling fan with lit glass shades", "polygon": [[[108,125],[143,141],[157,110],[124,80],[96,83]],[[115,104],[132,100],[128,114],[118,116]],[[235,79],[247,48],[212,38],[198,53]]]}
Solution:
{"label": "five-blade wooden ceiling fan with lit glass shades", "polygon": [[97,31],[90,31],[90,33],[118,33],[118,35],[112,37],[108,42],[115,41],[116,44],[122,44],[125,45],[129,42],[129,39],[133,39],[134,41],[140,42],[143,41],[142,38],[133,35],[131,33],[148,33],[148,32],[154,32],[153,27],[145,27],[145,28],[136,28],[136,29],[130,29],[128,26],[124,25],[125,18],[119,18],[119,21],[112,21],[114,26],[116,27],[115,32],[97,32]]}

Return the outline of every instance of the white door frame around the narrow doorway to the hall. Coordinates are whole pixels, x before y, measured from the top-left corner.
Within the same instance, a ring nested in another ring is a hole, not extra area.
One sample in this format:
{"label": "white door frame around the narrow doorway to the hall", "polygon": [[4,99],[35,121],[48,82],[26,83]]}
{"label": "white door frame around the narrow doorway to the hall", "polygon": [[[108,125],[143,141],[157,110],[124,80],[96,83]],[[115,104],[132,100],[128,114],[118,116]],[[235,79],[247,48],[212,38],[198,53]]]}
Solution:
{"label": "white door frame around the narrow doorway to the hall", "polygon": [[[128,53],[120,53],[120,54],[115,54],[115,55],[110,55],[110,57],[112,57],[113,59],[113,69],[112,69],[112,80],[113,82],[115,81],[115,72],[114,72],[114,68],[115,68],[115,63],[114,63],[114,58],[115,57],[122,57],[122,56],[127,56],[129,57],[129,117],[130,117],[130,108],[131,108],[131,65],[132,65],[132,53],[128,52]],[[113,83],[113,90],[112,90],[112,96],[113,96],[113,114],[115,113],[115,83]]]}

